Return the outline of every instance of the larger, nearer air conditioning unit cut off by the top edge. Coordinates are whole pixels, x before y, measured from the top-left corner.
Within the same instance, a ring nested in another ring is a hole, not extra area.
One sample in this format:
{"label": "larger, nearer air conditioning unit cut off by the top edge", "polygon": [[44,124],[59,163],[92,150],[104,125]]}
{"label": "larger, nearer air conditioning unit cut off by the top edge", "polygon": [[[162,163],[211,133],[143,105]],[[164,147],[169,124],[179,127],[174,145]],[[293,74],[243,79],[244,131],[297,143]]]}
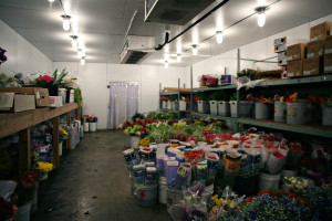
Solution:
{"label": "larger, nearer air conditioning unit cut off by the top edge", "polygon": [[184,25],[216,0],[145,0],[145,22]]}

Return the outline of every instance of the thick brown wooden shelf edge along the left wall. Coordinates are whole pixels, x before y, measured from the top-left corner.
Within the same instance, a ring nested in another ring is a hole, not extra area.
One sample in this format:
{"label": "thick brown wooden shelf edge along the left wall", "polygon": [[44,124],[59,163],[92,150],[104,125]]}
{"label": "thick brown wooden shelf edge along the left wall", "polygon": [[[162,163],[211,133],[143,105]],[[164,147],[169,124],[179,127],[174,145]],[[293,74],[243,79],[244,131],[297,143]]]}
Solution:
{"label": "thick brown wooden shelf edge along the left wall", "polygon": [[43,107],[27,112],[0,114],[0,138],[27,129],[33,125],[52,119],[76,108],[76,103],[70,103],[62,107]]}

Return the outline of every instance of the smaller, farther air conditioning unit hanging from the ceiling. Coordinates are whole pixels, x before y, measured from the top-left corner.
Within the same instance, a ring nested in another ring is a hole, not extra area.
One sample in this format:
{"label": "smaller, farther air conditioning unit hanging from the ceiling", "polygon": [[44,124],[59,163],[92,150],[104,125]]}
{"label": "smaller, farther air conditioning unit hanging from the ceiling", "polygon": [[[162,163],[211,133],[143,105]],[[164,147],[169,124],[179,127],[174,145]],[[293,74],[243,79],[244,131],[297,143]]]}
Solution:
{"label": "smaller, farther air conditioning unit hanging from the ceiling", "polygon": [[155,39],[152,36],[128,35],[125,45],[120,54],[122,64],[139,64],[155,46]]}

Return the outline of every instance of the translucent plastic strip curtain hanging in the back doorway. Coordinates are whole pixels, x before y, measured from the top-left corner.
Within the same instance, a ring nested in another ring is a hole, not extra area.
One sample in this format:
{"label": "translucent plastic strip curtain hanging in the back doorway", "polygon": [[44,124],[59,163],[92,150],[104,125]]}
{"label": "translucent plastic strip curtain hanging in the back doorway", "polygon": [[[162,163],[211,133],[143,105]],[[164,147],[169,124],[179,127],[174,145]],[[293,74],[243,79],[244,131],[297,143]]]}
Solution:
{"label": "translucent plastic strip curtain hanging in the back doorway", "polygon": [[110,82],[107,128],[117,129],[138,110],[138,83]]}

